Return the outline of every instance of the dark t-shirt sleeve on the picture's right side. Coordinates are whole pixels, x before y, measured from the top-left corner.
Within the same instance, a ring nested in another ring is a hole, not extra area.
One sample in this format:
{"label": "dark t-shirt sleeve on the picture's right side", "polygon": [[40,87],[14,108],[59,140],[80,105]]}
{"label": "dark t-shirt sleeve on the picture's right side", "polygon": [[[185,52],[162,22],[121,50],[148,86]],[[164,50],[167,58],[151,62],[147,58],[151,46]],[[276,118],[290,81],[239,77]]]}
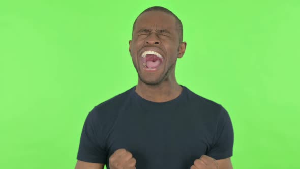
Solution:
{"label": "dark t-shirt sleeve on the picture's right side", "polygon": [[221,106],[216,134],[211,149],[207,155],[216,160],[232,156],[233,152],[233,127],[228,112]]}

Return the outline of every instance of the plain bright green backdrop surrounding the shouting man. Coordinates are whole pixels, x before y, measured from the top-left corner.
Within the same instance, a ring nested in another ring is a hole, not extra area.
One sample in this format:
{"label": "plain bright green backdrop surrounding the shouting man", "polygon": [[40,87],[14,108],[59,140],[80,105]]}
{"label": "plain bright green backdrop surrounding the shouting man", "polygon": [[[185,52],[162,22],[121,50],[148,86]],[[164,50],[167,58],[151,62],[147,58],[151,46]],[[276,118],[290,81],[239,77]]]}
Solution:
{"label": "plain bright green backdrop surrounding the shouting man", "polygon": [[0,167],[74,168],[88,112],[137,84],[144,9],[183,22],[178,83],[222,104],[234,168],[299,168],[300,1],[1,1]]}

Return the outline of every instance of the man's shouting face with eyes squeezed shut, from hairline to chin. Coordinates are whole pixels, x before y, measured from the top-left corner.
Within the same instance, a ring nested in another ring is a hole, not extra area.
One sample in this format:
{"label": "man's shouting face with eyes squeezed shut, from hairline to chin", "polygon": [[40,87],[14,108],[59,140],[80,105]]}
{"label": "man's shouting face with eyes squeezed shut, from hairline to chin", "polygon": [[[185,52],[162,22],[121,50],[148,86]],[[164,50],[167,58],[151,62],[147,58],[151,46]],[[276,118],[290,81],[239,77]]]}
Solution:
{"label": "man's shouting face with eyes squeezed shut, from hairline to chin", "polygon": [[[177,58],[185,52],[186,43],[179,44],[178,27],[173,16],[160,11],[145,12],[135,23],[129,51],[140,80],[158,85],[174,74]],[[151,52],[154,51],[155,53]],[[143,55],[143,57],[142,57]],[[153,55],[158,55],[154,57]],[[160,63],[156,68],[147,65]],[[159,59],[159,60],[157,60]]]}

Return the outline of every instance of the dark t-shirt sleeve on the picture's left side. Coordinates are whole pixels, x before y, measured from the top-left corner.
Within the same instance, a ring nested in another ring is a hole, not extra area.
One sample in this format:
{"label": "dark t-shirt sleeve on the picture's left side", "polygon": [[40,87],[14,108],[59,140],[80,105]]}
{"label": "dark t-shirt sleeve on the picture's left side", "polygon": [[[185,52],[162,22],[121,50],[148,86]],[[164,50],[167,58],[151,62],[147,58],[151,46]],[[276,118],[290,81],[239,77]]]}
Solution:
{"label": "dark t-shirt sleeve on the picture's left side", "polygon": [[99,126],[99,122],[97,122],[97,112],[94,107],[87,115],[83,125],[77,160],[92,163],[106,163],[107,153],[104,148],[105,136],[99,132],[100,130],[101,125]]}

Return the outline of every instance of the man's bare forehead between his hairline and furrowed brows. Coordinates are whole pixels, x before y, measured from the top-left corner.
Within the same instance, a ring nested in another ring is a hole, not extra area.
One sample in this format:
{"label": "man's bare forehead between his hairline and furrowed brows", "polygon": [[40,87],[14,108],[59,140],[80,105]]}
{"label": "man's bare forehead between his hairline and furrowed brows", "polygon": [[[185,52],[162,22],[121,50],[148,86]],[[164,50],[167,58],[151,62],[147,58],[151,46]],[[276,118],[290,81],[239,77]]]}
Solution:
{"label": "man's bare forehead between his hairline and furrowed brows", "polygon": [[175,31],[176,19],[174,16],[161,11],[145,12],[138,17],[135,23],[135,31],[142,28]]}

